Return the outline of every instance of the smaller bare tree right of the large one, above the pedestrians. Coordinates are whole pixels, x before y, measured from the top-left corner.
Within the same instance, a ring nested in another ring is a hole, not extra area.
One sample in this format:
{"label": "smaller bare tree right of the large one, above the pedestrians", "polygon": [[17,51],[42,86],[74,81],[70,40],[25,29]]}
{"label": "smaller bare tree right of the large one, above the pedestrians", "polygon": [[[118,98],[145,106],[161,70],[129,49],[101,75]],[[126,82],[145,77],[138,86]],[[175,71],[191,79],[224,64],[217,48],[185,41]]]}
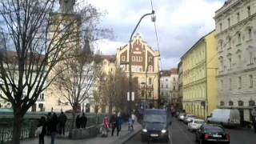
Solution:
{"label": "smaller bare tree right of the large one, above the pedestrians", "polygon": [[53,84],[70,103],[72,107],[72,126],[74,128],[75,115],[78,112],[79,104],[90,97],[90,90],[94,86],[99,71],[98,58],[90,54],[74,54],[74,58],[66,59],[62,65],[55,67],[58,74]]}

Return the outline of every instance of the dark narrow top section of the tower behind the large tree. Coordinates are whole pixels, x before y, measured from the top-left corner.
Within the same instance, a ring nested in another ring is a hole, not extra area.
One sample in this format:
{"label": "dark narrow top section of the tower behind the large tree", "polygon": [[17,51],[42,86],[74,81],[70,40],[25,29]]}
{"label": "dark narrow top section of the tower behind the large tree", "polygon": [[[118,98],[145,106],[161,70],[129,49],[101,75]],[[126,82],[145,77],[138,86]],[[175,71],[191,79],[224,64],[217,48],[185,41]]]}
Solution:
{"label": "dark narrow top section of the tower behind the large tree", "polygon": [[60,12],[63,14],[74,13],[75,0],[59,0]]}

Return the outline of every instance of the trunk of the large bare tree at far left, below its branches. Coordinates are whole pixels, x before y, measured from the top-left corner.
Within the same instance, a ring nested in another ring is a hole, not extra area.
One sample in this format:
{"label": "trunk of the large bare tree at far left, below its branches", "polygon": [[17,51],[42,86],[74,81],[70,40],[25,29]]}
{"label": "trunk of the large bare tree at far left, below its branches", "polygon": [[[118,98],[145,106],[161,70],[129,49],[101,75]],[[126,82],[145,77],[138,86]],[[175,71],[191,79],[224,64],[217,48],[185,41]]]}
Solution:
{"label": "trunk of the large bare tree at far left, below its branches", "polygon": [[21,133],[22,133],[22,121],[23,121],[22,114],[20,114],[20,113],[14,114],[12,144],[20,143],[20,138],[21,138]]}

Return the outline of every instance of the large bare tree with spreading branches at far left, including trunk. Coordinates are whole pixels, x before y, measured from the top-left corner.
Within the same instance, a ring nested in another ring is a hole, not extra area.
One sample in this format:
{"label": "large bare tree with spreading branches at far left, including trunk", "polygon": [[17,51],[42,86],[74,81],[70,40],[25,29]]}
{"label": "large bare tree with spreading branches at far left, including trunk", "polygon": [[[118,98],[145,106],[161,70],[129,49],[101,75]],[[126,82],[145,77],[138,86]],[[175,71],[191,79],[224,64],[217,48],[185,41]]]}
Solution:
{"label": "large bare tree with spreading branches at far left, including trunk", "polygon": [[52,73],[54,67],[72,58],[84,39],[102,32],[95,28],[100,14],[93,6],[80,8],[78,14],[56,14],[57,2],[0,2],[0,90],[14,110],[14,144],[20,143],[26,111],[58,76]]}

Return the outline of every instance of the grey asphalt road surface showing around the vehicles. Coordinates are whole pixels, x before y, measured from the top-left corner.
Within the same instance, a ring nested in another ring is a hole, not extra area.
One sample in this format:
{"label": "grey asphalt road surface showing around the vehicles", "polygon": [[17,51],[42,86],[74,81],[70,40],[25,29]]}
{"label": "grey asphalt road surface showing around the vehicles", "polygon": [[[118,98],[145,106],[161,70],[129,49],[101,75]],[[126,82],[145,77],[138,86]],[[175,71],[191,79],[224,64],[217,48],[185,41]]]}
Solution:
{"label": "grey asphalt road surface showing around the vehicles", "polygon": [[[249,129],[226,129],[230,133],[230,144],[256,144],[256,133]],[[126,144],[141,144],[140,133],[136,134],[134,138]],[[144,142],[146,143],[146,142]],[[150,142],[154,144],[164,142]],[[173,124],[170,126],[170,144],[197,144],[193,132],[187,130],[183,122],[179,122],[176,118],[173,119]]]}

